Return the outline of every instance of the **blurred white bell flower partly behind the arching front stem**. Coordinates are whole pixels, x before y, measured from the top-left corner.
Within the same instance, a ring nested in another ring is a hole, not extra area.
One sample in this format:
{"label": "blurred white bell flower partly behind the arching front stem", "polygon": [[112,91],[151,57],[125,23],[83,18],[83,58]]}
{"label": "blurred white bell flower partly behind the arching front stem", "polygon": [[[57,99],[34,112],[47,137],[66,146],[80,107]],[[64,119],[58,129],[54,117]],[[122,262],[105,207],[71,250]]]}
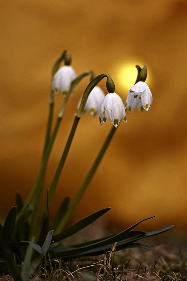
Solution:
{"label": "blurred white bell flower partly behind the arching front stem", "polygon": [[[96,116],[104,97],[105,94],[103,90],[99,86],[95,86],[88,96],[83,112],[89,112],[91,115]],[[79,108],[80,106],[81,99],[78,103],[77,108]]]}

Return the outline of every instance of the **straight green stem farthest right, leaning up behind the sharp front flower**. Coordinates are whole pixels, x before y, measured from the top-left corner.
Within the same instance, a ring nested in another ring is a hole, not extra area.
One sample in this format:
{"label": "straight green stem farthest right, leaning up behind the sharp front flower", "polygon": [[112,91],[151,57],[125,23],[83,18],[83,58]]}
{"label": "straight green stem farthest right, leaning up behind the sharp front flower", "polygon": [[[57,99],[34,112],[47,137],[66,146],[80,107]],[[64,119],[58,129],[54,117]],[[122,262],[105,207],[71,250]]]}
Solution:
{"label": "straight green stem farthest right, leaning up behind the sharp front flower", "polygon": [[96,171],[96,169],[97,169],[97,167],[98,167],[98,165],[99,165],[99,163],[100,163],[100,161],[101,161],[101,159],[102,159],[102,157],[103,157],[103,155],[104,155],[104,153],[105,153],[105,151],[106,151],[106,149],[107,149],[107,147],[108,147],[108,145],[109,145],[109,143],[110,143],[110,141],[111,141],[111,139],[112,139],[112,137],[115,133],[115,131],[116,131],[116,128],[113,126],[109,135],[108,135],[108,137],[107,137],[107,139],[106,139],[106,141],[104,142],[103,147],[101,148],[95,162],[93,163],[92,168],[90,169],[86,179],[84,180],[83,185],[79,189],[77,195],[75,196],[72,204],[70,205],[69,209],[67,210],[65,216],[63,217],[62,221],[58,225],[58,228],[56,229],[54,234],[60,233],[60,231],[65,227],[65,225],[66,225],[68,219],[70,218],[71,214],[73,213],[74,209],[77,207],[77,205],[78,205],[79,201],[81,200],[82,196],[84,195],[84,192],[86,191],[86,189],[87,189],[87,187],[88,187],[88,185],[89,185],[89,183],[90,183],[90,181],[91,181],[91,179],[92,179],[92,177],[93,177],[93,175],[94,175],[94,173],[95,173],[95,171]]}

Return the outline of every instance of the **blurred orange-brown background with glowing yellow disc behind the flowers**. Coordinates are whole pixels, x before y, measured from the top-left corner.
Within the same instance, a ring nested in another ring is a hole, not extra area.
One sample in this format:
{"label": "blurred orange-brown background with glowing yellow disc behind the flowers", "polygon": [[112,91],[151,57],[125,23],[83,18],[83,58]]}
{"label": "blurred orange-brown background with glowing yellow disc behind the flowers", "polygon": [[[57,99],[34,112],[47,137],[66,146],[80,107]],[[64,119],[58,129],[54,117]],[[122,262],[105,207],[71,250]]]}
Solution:
{"label": "blurred orange-brown background with glowing yellow disc behind the flowers", "polygon": [[[106,224],[143,224],[155,230],[187,229],[187,1],[1,0],[0,214],[24,200],[40,168],[49,110],[51,69],[65,49],[77,75],[108,73],[125,102],[137,76],[148,70],[150,111],[136,108],[115,136],[75,211],[74,221],[105,207]],[[69,100],[48,165],[44,198],[89,77]],[[99,83],[107,94],[106,81]],[[62,103],[55,97],[55,116]],[[111,130],[99,118],[81,117],[50,208],[76,194]],[[139,227],[141,229],[141,227]]]}

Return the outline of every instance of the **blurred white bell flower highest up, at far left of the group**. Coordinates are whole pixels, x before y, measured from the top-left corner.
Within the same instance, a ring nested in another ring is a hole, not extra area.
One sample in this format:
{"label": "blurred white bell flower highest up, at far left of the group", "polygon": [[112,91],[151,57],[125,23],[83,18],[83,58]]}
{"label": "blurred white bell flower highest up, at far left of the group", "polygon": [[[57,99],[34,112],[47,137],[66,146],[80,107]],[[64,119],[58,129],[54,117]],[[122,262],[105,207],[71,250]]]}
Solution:
{"label": "blurred white bell flower highest up, at far left of the group", "polygon": [[[65,65],[60,67],[53,76],[52,91],[54,95],[60,93],[66,95],[70,89],[71,82],[77,77],[73,67]],[[75,90],[75,89],[74,89]],[[74,92],[72,91],[72,93]]]}

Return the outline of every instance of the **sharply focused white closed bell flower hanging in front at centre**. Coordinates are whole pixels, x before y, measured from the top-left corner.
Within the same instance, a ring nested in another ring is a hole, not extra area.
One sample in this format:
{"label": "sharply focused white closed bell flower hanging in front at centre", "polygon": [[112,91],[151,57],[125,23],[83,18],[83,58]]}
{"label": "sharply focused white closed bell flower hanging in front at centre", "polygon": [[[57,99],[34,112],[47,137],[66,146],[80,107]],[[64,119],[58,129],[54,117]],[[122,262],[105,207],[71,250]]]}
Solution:
{"label": "sharply focused white closed bell flower hanging in front at centre", "polygon": [[123,101],[116,93],[108,93],[103,99],[99,108],[100,125],[110,119],[114,127],[117,128],[120,120],[127,122]]}

